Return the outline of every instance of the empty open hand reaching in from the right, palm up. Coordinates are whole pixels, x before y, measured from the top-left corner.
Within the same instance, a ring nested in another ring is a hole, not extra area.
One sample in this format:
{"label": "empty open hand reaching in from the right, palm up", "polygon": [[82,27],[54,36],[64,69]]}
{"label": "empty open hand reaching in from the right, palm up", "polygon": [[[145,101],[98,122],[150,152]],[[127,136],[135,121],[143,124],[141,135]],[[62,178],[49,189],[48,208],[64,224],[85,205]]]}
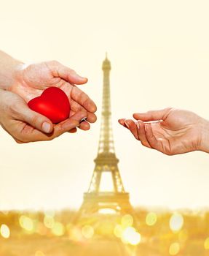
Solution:
{"label": "empty open hand reaching in from the right, palm up", "polygon": [[[133,114],[135,120],[119,119],[143,146],[167,155],[201,150],[208,121],[187,110],[165,108]],[[205,151],[205,150],[204,150]]]}

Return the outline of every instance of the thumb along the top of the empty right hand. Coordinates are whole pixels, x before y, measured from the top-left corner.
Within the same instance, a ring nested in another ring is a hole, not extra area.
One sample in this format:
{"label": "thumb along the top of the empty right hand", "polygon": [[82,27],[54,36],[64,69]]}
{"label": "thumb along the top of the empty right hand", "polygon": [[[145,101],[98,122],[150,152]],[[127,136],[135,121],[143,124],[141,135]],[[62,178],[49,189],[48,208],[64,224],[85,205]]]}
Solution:
{"label": "thumb along the top of the empty right hand", "polygon": [[146,113],[134,113],[133,117],[136,120],[141,120],[141,121],[157,121],[157,120],[165,120],[167,117],[168,113],[172,108],[165,108],[162,110],[151,110]]}

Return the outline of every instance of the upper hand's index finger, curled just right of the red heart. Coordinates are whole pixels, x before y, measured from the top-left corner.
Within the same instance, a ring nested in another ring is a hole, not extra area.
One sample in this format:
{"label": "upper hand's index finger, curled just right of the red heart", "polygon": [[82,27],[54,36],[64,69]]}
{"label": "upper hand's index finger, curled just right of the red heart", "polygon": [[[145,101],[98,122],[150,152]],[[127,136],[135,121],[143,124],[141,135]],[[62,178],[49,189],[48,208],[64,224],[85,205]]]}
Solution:
{"label": "upper hand's index finger, curled just right of the red heart", "polygon": [[74,86],[71,91],[71,98],[74,99],[75,102],[79,103],[79,105],[82,105],[82,107],[88,112],[95,113],[97,110],[95,102],[93,102],[87,94],[76,86]]}

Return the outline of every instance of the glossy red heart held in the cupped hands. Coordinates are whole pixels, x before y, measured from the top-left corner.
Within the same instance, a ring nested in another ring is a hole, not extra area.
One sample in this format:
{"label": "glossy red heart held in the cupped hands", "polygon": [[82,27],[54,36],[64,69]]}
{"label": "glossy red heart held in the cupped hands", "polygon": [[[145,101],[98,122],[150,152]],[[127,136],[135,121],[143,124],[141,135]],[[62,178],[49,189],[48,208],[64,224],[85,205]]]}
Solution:
{"label": "glossy red heart held in the cupped hands", "polygon": [[68,118],[71,109],[66,93],[58,87],[45,89],[41,96],[28,102],[28,107],[47,116],[53,124],[58,124]]}

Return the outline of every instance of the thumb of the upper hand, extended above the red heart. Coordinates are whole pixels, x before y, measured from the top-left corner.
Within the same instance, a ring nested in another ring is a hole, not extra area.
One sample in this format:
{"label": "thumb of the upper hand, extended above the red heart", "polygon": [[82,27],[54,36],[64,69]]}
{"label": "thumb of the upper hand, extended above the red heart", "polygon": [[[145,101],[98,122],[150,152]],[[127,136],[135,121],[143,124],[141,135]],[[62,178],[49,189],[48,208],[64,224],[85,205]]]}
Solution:
{"label": "thumb of the upper hand, extended above the red heart", "polygon": [[58,61],[50,61],[47,62],[48,67],[52,71],[52,75],[55,78],[63,78],[64,80],[68,81],[69,83],[75,84],[84,84],[87,83],[87,78],[83,78],[82,76],[78,75],[74,69],[70,69],[69,67],[60,64]]}

